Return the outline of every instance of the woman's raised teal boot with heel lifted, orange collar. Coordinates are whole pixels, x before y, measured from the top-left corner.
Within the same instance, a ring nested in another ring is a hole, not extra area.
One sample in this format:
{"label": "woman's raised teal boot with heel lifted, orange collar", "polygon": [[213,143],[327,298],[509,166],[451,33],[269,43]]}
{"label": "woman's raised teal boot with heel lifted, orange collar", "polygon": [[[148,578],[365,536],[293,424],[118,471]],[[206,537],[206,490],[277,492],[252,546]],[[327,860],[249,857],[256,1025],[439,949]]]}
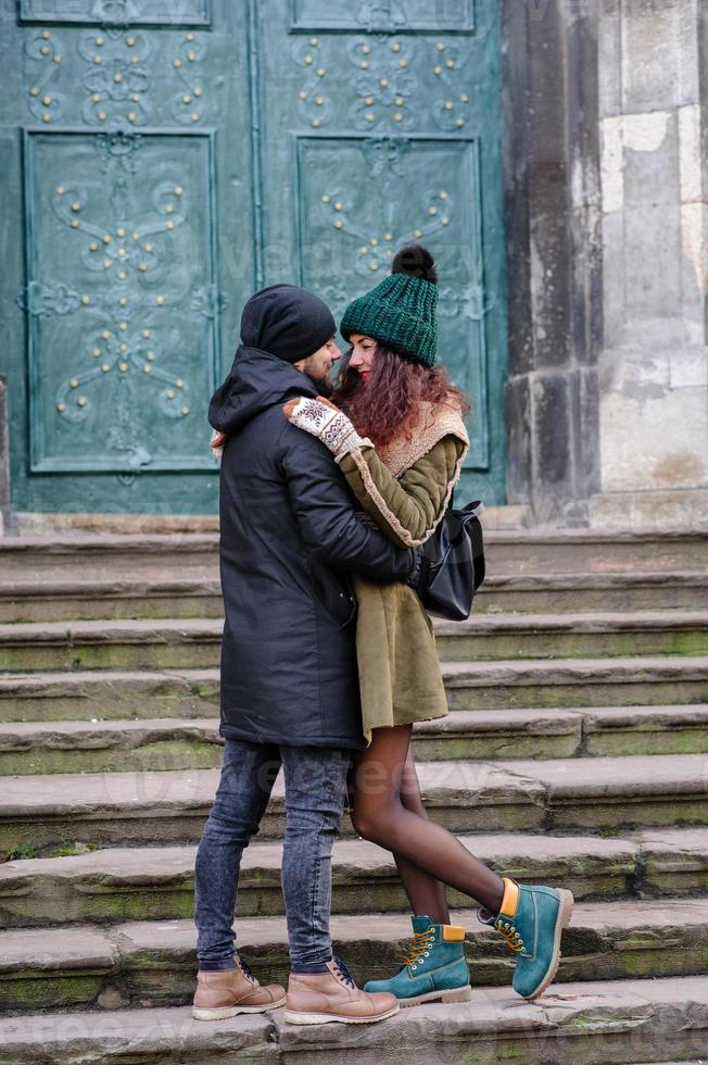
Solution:
{"label": "woman's raised teal boot with heel lifted, orange collar", "polygon": [[498,914],[478,911],[483,925],[501,932],[516,954],[513,987],[524,999],[538,999],[560,962],[560,934],[570,924],[573,897],[557,888],[528,887],[504,877]]}

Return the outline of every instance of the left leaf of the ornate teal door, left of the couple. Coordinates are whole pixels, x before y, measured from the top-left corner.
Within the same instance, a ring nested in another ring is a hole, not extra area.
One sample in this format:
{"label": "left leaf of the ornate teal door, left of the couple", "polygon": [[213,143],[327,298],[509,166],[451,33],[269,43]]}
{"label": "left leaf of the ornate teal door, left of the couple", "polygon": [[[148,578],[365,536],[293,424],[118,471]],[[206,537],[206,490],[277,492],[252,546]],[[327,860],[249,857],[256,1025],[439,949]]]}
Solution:
{"label": "left leaf of the ornate teal door, left of the couple", "polygon": [[206,405],[254,284],[248,7],[215,8],[22,0],[2,34],[18,510],[214,510]]}

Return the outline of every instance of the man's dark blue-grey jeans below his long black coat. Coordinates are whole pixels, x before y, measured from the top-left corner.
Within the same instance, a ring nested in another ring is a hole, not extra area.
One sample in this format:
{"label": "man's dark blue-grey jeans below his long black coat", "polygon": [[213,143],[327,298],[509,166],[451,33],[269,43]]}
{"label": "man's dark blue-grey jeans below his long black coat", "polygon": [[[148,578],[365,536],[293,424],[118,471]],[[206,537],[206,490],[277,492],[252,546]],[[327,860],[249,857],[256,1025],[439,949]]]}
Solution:
{"label": "man's dark blue-grey jeans below his long black coat", "polygon": [[344,806],[350,752],[226,740],[222,777],[197,852],[197,954],[201,969],[236,965],[233,912],[241,854],[258,831],[282,765],[286,838],[281,884],[292,968],[332,956],[331,854]]}

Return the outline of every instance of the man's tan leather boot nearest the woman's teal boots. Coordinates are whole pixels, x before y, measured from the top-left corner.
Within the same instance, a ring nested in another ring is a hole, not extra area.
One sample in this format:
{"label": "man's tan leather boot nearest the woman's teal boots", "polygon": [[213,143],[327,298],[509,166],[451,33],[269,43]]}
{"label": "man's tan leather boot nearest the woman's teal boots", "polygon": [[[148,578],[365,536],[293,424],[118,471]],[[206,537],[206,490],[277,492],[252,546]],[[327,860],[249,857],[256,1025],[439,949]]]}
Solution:
{"label": "man's tan leather boot nearest the woman's teal boots", "polygon": [[328,973],[291,973],[288,979],[286,1020],[291,1025],[366,1025],[399,1012],[399,1000],[388,991],[361,991],[346,966],[333,958]]}

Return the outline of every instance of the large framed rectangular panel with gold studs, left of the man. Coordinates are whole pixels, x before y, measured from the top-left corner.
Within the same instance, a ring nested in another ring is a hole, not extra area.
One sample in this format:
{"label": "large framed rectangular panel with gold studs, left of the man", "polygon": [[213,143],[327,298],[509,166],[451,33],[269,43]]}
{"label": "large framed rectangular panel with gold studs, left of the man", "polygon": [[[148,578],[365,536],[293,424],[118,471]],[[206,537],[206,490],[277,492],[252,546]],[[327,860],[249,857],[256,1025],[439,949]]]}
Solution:
{"label": "large framed rectangular panel with gold studs, left of the man", "polygon": [[207,468],[212,160],[208,134],[28,134],[35,472]]}

